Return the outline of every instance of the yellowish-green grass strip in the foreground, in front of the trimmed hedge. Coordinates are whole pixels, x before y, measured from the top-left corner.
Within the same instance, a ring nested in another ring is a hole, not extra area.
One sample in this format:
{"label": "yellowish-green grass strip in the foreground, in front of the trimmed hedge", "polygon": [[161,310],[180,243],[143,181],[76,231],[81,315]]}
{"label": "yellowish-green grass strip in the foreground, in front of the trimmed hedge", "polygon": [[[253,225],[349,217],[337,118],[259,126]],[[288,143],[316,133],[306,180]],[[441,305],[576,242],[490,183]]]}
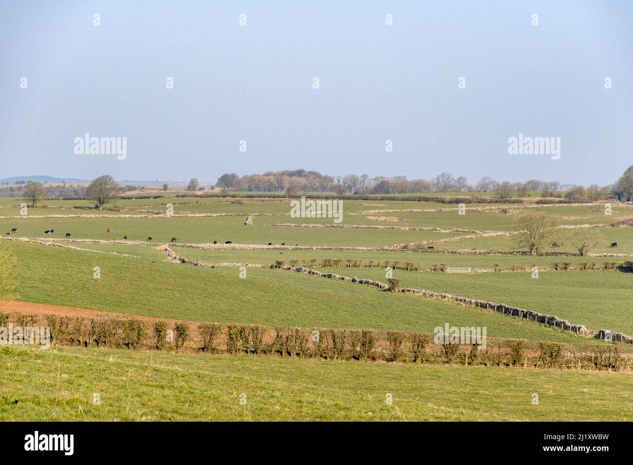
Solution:
{"label": "yellowish-green grass strip in the foreground, in front of the trimmed hedge", "polygon": [[0,349],[0,368],[1,421],[633,419],[628,373],[68,347]]}

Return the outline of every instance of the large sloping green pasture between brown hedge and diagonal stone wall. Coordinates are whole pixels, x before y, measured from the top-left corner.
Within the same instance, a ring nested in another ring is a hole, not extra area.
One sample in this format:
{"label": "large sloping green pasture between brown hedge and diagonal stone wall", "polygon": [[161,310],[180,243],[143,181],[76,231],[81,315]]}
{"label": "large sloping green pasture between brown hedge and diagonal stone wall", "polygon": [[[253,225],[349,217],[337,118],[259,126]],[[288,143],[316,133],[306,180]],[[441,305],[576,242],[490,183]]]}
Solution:
{"label": "large sloping green pasture between brown hedge and diagonal stone wall", "polygon": [[[489,337],[586,341],[483,309],[282,270],[249,268],[242,279],[239,268],[198,267],[38,244],[8,245],[17,259],[16,292],[28,302],[155,318],[308,328],[433,332],[448,322],[486,326]],[[95,266],[100,269],[99,279],[94,278]]]}

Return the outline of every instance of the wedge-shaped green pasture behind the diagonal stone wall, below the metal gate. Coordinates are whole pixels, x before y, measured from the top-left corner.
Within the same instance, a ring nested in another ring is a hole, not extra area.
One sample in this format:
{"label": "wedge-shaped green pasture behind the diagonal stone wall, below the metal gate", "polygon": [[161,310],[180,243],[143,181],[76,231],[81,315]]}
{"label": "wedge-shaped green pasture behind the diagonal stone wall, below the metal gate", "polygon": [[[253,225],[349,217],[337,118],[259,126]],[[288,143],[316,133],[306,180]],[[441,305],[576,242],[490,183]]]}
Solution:
{"label": "wedge-shaped green pasture behind the diagonal stone wall, below the metal gate", "polygon": [[[370,278],[386,283],[385,271],[318,268],[320,271]],[[394,271],[401,287],[508,304],[556,315],[595,330],[606,328],[633,335],[633,273],[622,271],[531,271],[512,273],[418,273]]]}

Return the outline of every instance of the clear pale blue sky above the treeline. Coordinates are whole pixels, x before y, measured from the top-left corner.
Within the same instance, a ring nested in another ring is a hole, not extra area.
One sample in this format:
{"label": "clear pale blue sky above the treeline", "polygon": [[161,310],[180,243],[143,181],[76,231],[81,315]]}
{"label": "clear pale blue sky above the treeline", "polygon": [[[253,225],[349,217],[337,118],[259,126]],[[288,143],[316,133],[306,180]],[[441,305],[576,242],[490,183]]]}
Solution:
{"label": "clear pale blue sky above the treeline", "polygon": [[[633,164],[632,46],[619,0],[0,0],[0,178],[608,185]],[[125,158],[77,154],[85,133]],[[520,133],[560,158],[509,154]]]}

